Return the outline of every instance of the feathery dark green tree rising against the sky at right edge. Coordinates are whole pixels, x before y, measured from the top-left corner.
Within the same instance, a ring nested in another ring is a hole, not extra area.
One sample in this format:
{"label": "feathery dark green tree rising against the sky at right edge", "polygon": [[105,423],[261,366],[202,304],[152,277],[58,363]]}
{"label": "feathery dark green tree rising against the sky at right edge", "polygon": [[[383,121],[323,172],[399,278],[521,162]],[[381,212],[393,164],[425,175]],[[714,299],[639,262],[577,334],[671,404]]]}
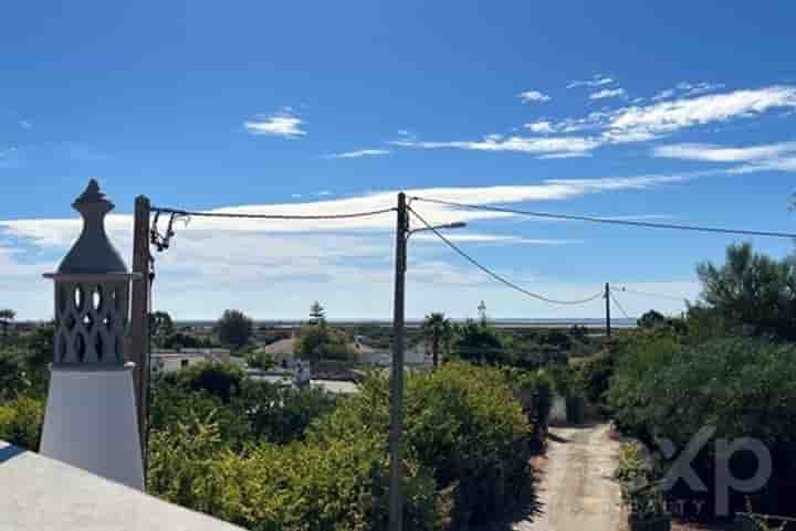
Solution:
{"label": "feathery dark green tree rising against the sky at right edge", "polygon": [[753,252],[752,245],[730,245],[726,262],[700,264],[702,304],[727,325],[752,336],[796,339],[796,267]]}

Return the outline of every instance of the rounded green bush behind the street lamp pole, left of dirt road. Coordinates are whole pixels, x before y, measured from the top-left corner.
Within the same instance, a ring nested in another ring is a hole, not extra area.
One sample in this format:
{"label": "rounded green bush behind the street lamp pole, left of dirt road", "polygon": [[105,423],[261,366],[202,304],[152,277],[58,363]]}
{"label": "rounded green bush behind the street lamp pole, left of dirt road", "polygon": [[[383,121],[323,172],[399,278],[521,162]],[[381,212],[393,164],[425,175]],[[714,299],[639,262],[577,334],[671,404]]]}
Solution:
{"label": "rounded green bush behind the street lamp pole, left of dirt road", "polygon": [[[311,427],[308,439],[373,435],[386,442],[388,405],[388,378],[370,374],[355,396]],[[526,487],[532,426],[501,371],[448,363],[409,373],[404,418],[408,455],[453,497],[454,527],[494,518]]]}

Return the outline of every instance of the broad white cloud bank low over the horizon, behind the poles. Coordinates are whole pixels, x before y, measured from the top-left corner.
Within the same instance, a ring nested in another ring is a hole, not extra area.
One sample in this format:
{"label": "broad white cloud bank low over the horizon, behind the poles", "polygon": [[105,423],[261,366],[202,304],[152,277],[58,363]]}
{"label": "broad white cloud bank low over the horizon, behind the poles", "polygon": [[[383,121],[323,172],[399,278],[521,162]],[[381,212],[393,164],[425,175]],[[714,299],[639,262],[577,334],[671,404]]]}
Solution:
{"label": "broad white cloud bank low over the horizon, behind the poles", "polygon": [[[611,190],[643,189],[673,182],[670,176],[638,176],[609,179],[543,181],[502,187],[451,187],[407,190],[407,194],[471,203],[519,203],[562,201]],[[376,210],[396,203],[397,191],[383,191],[344,199],[303,203],[251,204],[217,209],[216,212],[324,214]],[[412,204],[431,223],[465,221],[468,232],[451,231],[450,236],[479,253],[483,245],[545,245],[551,253],[580,243],[577,240],[535,237],[528,225],[522,234],[478,231],[491,220],[505,220],[509,213],[458,210],[427,202]],[[161,220],[163,223],[163,220]],[[195,217],[187,226],[176,225],[168,252],[156,254],[158,279],[155,305],[179,319],[213,318],[234,306],[258,318],[301,318],[314,299],[322,300],[332,317],[388,317],[392,289],[392,231],[395,213],[332,221],[260,221]],[[41,274],[56,267],[57,259],[80,233],[76,216],[54,220],[0,221],[0,293],[4,304],[19,310],[21,319],[45,318],[52,314],[52,286]],[[163,229],[163,226],[161,226]],[[112,241],[123,256],[130,255],[133,219],[113,214],[107,219]],[[407,289],[407,312],[422,317],[442,310],[467,316],[486,299],[502,308],[495,315],[556,316],[557,308],[530,301],[493,284],[428,234],[412,237]],[[416,242],[415,238],[418,238]],[[425,241],[425,238],[428,238]],[[13,242],[13,244],[12,244]],[[12,246],[10,246],[12,245]],[[521,248],[521,247],[519,247]],[[52,259],[41,259],[42,255]],[[484,259],[489,264],[489,255]],[[598,288],[590,284],[557,282],[522,270],[505,272],[526,282],[533,275],[534,289],[558,298],[579,298]],[[432,296],[430,295],[432,294]],[[579,309],[584,316],[599,312]],[[563,310],[562,310],[563,311]],[[577,317],[567,308],[566,317]]]}

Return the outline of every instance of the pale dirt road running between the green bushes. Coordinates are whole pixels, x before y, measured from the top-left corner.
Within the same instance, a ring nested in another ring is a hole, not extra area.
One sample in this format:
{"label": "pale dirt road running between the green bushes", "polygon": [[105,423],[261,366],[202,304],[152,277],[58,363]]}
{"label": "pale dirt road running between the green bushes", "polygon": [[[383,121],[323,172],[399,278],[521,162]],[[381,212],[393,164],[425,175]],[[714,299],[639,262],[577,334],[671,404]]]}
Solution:
{"label": "pale dirt road running between the green bushes", "polygon": [[517,531],[617,531],[619,485],[611,479],[619,443],[608,425],[553,427],[537,485],[540,511]]}

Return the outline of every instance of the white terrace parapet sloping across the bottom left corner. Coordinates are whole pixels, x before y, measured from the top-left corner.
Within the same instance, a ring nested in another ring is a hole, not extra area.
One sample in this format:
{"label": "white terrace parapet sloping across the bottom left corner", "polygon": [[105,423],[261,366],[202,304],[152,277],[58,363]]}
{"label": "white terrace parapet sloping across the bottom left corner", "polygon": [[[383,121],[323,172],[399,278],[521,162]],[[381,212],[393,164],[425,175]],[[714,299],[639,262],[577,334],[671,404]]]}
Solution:
{"label": "white terrace parapet sloping across the bottom left corner", "polygon": [[0,530],[241,531],[0,440]]}

